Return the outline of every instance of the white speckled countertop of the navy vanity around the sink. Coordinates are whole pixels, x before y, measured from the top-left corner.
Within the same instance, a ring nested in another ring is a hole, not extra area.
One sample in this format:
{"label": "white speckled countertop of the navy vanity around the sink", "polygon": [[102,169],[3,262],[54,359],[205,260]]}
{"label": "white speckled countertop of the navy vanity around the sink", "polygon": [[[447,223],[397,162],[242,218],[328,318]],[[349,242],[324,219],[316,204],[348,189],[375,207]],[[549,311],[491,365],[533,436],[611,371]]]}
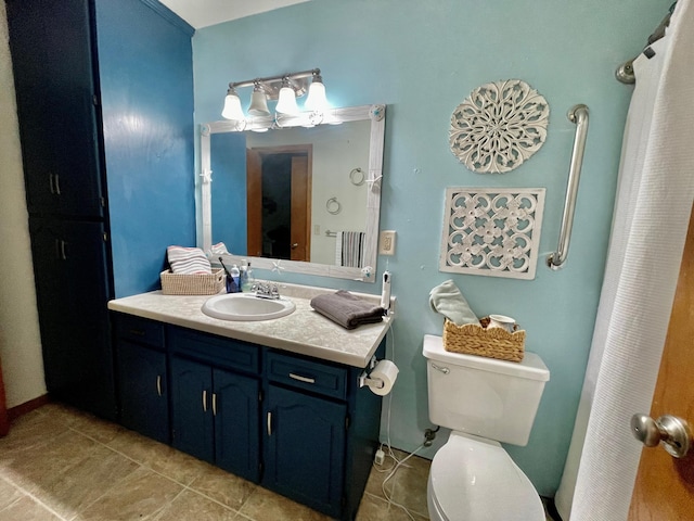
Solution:
{"label": "white speckled countertop of the navy vanity around the sink", "polygon": [[[273,320],[231,321],[211,318],[203,314],[201,308],[214,295],[164,295],[160,291],[116,298],[108,302],[108,309],[355,367],[367,367],[394,319],[384,317],[383,322],[347,330],[310,306],[313,296],[335,290],[278,285],[282,296],[294,302],[296,310]],[[377,295],[355,294],[380,301]],[[391,303],[394,308],[395,298]]]}

